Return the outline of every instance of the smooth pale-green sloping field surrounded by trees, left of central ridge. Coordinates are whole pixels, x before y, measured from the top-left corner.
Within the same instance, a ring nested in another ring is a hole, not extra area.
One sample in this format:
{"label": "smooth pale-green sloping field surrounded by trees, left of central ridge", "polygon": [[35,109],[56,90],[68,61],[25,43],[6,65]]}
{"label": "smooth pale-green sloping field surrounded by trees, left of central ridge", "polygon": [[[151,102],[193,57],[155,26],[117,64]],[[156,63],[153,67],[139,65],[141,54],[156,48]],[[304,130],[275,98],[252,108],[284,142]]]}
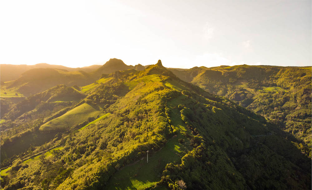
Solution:
{"label": "smooth pale-green sloping field surrounded by trees, left of central ridge", "polygon": [[84,103],[66,112],[60,117],[41,125],[39,130],[49,131],[54,129],[66,129],[73,125],[80,124],[89,117],[96,117],[100,114],[102,114],[102,108],[99,105],[89,105]]}

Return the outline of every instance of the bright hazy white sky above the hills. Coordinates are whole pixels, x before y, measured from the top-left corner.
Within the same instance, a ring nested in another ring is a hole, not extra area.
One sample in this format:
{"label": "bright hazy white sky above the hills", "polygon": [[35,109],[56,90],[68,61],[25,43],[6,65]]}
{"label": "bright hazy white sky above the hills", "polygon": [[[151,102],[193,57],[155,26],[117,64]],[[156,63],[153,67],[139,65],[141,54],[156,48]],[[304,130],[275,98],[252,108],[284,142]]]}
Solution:
{"label": "bright hazy white sky above the hills", "polygon": [[311,1],[1,0],[0,64],[311,66]]}

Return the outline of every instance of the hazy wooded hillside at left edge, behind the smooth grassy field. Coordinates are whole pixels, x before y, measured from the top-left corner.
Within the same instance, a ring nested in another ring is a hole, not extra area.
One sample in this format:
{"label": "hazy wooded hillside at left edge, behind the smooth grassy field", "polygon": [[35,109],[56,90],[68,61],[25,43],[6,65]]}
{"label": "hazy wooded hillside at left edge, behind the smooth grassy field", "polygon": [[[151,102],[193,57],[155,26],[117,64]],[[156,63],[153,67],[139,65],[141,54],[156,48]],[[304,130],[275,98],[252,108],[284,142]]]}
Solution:
{"label": "hazy wooded hillside at left edge, behind the smooth grassy field", "polygon": [[[31,145],[41,146],[53,139],[55,131],[41,133],[39,127],[65,114],[83,98],[85,95],[76,89],[57,85],[16,104],[7,104],[7,113],[1,110],[1,163],[24,153]],[[6,103],[2,101],[1,108]]]}

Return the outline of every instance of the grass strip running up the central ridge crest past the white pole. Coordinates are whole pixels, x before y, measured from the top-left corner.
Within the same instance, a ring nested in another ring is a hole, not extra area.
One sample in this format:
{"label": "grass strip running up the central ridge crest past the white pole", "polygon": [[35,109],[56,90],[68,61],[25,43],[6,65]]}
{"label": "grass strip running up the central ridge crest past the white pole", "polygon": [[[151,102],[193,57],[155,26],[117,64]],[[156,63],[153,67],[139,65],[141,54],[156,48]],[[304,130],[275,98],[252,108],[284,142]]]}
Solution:
{"label": "grass strip running up the central ridge crest past the white pole", "polygon": [[[149,77],[150,79],[154,77]],[[146,80],[146,78],[144,79]],[[157,79],[156,79],[157,80]],[[167,86],[175,90],[185,88],[182,85],[175,86],[173,82],[167,82]],[[169,102],[171,108],[178,106],[179,101],[172,100]],[[168,143],[158,152],[149,155],[149,163],[144,157],[134,164],[127,165],[119,170],[111,179],[106,189],[144,189],[154,186],[160,181],[160,175],[167,163],[181,163],[181,158],[191,150],[188,139],[183,135],[187,132],[185,123],[180,117],[179,110],[173,109],[170,113],[170,119],[174,129],[177,130],[177,136],[168,140]],[[181,133],[182,132],[182,133]],[[180,144],[178,139],[184,139],[184,143]],[[158,189],[166,189],[159,187]]]}

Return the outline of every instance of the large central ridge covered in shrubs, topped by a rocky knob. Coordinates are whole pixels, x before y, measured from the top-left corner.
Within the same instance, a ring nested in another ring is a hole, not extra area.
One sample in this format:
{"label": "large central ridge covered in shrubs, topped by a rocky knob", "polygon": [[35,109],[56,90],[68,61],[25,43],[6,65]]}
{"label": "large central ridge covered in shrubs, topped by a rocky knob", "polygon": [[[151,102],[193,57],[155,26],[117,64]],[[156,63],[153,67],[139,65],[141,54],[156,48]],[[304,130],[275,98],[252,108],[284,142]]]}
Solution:
{"label": "large central ridge covered in shrubs, topped by a rocky knob", "polygon": [[[2,161],[8,168],[1,188],[311,188],[311,159],[295,139],[261,115],[179,79],[160,60],[78,89],[82,100],[50,118],[48,127],[45,117],[34,128],[57,133],[51,140]],[[93,112],[98,115],[82,117]],[[63,121],[68,124],[59,125]]]}

